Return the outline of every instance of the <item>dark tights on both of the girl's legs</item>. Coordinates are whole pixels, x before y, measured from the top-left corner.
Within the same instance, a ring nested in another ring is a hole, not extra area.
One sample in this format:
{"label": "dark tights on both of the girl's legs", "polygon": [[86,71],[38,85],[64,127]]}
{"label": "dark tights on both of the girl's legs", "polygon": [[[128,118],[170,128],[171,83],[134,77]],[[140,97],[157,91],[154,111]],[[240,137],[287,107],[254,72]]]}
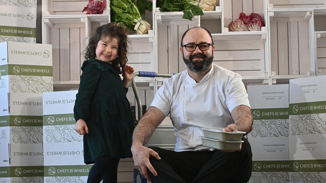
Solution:
{"label": "dark tights on both of the girl's legs", "polygon": [[107,155],[97,157],[89,171],[87,183],[97,183],[103,179],[103,183],[116,183],[118,163],[120,158],[111,158]]}

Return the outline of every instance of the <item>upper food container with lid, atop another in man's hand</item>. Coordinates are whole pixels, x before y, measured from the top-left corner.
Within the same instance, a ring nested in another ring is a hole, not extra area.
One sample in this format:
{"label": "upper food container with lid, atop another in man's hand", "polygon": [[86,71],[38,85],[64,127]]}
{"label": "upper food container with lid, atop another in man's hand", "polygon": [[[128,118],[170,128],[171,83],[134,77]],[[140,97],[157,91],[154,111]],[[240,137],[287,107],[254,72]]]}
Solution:
{"label": "upper food container with lid, atop another in man's hand", "polygon": [[224,140],[224,141],[240,141],[244,131],[224,131],[224,128],[220,129],[203,129],[204,137],[212,138],[216,140]]}

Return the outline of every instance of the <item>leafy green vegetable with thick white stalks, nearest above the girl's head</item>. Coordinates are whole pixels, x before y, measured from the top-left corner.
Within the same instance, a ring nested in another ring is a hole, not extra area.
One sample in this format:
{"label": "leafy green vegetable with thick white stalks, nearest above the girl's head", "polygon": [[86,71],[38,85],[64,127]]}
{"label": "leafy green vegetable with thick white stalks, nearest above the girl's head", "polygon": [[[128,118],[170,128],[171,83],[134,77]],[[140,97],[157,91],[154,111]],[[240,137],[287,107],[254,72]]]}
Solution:
{"label": "leafy green vegetable with thick white stalks, nearest above the girl's head", "polygon": [[141,18],[140,12],[133,0],[111,0],[112,19],[118,24],[123,24],[137,34],[147,33],[150,24]]}

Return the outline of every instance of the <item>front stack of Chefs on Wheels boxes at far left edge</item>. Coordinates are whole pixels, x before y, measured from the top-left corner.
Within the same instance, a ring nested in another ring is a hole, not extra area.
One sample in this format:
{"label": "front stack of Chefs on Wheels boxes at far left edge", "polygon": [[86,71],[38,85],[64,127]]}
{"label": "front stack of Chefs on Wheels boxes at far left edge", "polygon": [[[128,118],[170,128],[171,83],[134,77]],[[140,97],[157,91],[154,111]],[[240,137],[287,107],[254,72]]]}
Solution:
{"label": "front stack of Chefs on Wheels boxes at far left edge", "polygon": [[0,180],[43,182],[42,92],[53,91],[52,45],[0,43]]}

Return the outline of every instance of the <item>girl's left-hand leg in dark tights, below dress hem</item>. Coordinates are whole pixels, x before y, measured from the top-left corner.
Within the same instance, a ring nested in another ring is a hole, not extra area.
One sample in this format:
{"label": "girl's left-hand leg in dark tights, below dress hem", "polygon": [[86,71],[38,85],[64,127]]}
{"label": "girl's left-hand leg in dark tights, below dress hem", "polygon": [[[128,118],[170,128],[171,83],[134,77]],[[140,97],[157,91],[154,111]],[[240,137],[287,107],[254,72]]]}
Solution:
{"label": "girl's left-hand leg in dark tights, below dress hem", "polygon": [[97,157],[94,160],[94,165],[89,170],[87,183],[98,183],[100,182],[111,164],[111,158],[107,155]]}

